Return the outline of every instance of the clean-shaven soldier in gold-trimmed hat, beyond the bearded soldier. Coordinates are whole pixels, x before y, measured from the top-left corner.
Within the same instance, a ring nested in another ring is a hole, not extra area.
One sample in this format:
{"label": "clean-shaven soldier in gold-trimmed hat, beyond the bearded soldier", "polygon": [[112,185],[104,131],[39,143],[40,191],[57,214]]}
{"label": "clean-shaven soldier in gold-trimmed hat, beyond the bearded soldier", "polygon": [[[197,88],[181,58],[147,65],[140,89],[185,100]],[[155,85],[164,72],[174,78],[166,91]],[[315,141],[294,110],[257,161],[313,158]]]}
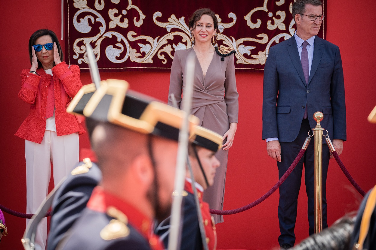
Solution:
{"label": "clean-shaven soldier in gold-trimmed hat, beyond the bearded soldier", "polygon": [[[214,183],[216,169],[220,162],[215,157],[215,153],[222,147],[222,137],[200,126],[196,126],[191,137],[192,145],[188,153],[194,175],[194,186],[199,198],[202,222],[205,228],[206,243],[208,249],[213,250],[217,245],[217,235],[215,232],[215,223],[209,213],[209,204],[203,202],[202,195],[206,188]],[[192,188],[192,179],[190,172],[186,170],[186,179],[183,193],[183,218],[182,235],[180,250],[202,249],[203,243],[199,227],[199,218],[196,212],[196,203],[194,201],[194,192]],[[170,233],[170,217],[162,221],[156,227],[156,234],[163,240],[165,246],[168,245],[168,236]]]}

